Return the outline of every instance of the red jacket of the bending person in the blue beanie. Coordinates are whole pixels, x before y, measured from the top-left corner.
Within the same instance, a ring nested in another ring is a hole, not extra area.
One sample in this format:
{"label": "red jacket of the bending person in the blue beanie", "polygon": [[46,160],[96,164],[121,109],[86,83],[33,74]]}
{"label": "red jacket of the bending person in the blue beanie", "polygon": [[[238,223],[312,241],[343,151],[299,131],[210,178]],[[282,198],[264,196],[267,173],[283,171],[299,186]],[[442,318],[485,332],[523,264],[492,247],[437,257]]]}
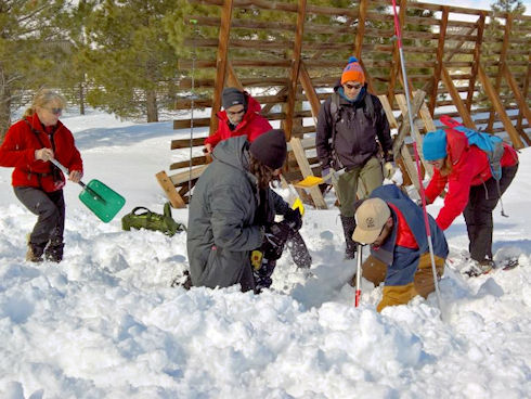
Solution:
{"label": "red jacket of the bending person in the blue beanie", "polygon": [[[516,165],[518,155],[515,149],[505,143],[504,147],[502,167]],[[426,201],[431,204],[448,183],[444,206],[436,219],[442,230],[448,229],[465,209],[470,186],[482,184],[492,177],[487,153],[476,145],[469,145],[464,133],[446,129],[446,153],[452,163],[452,171],[443,177],[439,170],[433,169],[433,177],[426,188]]]}

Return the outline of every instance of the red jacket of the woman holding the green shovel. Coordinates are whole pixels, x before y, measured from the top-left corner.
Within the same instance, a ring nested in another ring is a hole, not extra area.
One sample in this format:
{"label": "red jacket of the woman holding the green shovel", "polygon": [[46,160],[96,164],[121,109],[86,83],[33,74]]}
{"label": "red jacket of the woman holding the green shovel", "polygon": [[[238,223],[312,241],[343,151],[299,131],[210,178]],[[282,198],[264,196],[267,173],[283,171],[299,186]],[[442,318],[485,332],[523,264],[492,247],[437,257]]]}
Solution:
{"label": "red jacket of the woman holding the green shovel", "polygon": [[[42,144],[26,120],[38,131]],[[46,130],[46,132],[42,130],[42,125],[37,114],[18,120],[8,130],[5,139],[0,146],[0,166],[15,168],[12,175],[13,186],[34,186],[41,188],[46,192],[52,192],[61,190],[65,185],[65,177],[61,171],[59,172],[61,180],[53,180],[51,163],[35,159],[35,150],[42,147],[53,149],[50,137],[51,131],[49,131],[51,129]],[[74,137],[61,121],[57,121],[57,128],[53,133],[53,142],[55,145],[55,159],[69,171],[79,170],[82,172],[83,164],[79,151],[75,146]]]}

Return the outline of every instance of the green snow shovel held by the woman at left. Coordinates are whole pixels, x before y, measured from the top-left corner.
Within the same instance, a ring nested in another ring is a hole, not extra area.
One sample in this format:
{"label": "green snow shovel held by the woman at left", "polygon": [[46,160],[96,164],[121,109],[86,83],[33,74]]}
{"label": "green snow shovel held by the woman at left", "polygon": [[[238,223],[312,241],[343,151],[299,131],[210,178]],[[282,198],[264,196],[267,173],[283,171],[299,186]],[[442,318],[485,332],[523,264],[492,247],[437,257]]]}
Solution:
{"label": "green snow shovel held by the woman at left", "polygon": [[[60,168],[65,176],[69,175],[68,169],[56,159],[50,159],[50,162]],[[105,223],[113,220],[126,204],[126,198],[100,180],[92,179],[88,184],[79,181],[78,184],[83,188],[79,193],[79,200]]]}

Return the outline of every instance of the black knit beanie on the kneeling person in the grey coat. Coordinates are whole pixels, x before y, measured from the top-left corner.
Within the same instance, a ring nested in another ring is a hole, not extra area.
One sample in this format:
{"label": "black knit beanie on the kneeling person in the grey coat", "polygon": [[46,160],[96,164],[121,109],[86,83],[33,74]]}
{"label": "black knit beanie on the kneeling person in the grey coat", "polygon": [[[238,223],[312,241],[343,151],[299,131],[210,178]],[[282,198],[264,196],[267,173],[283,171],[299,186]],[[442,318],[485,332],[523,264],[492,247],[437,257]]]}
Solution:
{"label": "black knit beanie on the kneeling person in the grey coat", "polygon": [[250,154],[271,169],[282,168],[286,160],[287,146],[284,130],[272,129],[260,134],[249,147]]}

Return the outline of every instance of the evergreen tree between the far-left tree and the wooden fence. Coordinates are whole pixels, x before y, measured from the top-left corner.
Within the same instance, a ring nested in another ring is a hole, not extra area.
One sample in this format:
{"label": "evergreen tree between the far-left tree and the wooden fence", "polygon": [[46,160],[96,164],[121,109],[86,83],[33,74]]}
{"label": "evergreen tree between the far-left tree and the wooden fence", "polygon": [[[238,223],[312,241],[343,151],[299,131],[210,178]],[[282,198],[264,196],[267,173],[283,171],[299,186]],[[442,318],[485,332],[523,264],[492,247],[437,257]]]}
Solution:
{"label": "evergreen tree between the far-left tree and the wooden fence", "polygon": [[83,59],[90,79],[87,100],[121,117],[157,121],[172,107],[177,55],[168,43],[165,16],[172,0],[106,0],[88,23]]}

